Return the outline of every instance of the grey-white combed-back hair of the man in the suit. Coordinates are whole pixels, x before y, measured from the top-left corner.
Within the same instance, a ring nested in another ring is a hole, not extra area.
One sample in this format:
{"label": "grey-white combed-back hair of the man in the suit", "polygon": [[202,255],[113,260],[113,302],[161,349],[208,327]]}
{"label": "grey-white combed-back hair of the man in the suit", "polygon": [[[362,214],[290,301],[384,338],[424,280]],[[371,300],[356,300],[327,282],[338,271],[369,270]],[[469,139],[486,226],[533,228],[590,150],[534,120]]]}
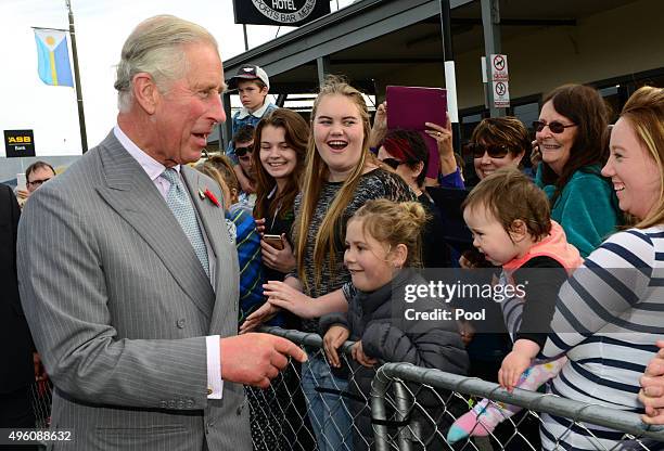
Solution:
{"label": "grey-white combed-back hair of the man in the suit", "polygon": [[157,15],[141,22],[123,46],[114,87],[120,112],[127,112],[133,100],[133,76],[148,73],[161,92],[169,81],[181,78],[188,68],[184,46],[204,42],[217,53],[217,40],[200,25],[173,15]]}

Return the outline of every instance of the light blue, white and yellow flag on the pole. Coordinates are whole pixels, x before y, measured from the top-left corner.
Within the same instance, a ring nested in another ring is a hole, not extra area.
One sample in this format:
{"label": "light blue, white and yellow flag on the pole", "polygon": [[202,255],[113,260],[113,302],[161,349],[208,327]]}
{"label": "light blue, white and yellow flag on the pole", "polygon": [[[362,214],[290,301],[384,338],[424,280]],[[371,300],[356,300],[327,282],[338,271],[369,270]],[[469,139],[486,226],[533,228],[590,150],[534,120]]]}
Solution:
{"label": "light blue, white and yellow flag on the pole", "polygon": [[54,29],[35,29],[39,78],[47,85],[74,87],[67,34]]}

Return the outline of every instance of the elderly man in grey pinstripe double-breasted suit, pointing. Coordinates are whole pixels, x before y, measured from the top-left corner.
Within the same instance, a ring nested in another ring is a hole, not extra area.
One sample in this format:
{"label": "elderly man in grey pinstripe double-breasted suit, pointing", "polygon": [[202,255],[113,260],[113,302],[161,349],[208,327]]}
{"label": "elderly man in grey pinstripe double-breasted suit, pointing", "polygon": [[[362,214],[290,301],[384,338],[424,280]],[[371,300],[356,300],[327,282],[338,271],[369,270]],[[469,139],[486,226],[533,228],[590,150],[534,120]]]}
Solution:
{"label": "elderly man in grey pinstripe double-breasted suit, pointing", "polygon": [[[204,28],[141,23],[117,67],[117,125],[38,190],[18,232],[21,297],[54,383],[56,449],[250,450],[242,384],[302,349],[237,335],[239,272],[212,179],[186,166],[225,120]],[[38,236],[39,239],[35,239]]]}

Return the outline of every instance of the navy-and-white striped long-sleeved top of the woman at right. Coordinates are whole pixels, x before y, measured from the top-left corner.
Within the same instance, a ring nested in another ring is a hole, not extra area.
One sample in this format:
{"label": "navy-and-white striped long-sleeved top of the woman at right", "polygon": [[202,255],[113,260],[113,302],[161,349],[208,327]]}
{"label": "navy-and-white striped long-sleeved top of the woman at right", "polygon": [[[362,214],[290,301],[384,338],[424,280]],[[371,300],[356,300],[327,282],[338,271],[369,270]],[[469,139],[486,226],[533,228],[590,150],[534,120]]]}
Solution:
{"label": "navy-and-white striped long-sleeved top of the woman at right", "polygon": [[[616,233],[561,287],[542,355],[570,359],[550,392],[636,413],[639,377],[664,339],[664,226]],[[612,449],[623,434],[542,415],[544,449]],[[592,437],[595,436],[595,438]]]}

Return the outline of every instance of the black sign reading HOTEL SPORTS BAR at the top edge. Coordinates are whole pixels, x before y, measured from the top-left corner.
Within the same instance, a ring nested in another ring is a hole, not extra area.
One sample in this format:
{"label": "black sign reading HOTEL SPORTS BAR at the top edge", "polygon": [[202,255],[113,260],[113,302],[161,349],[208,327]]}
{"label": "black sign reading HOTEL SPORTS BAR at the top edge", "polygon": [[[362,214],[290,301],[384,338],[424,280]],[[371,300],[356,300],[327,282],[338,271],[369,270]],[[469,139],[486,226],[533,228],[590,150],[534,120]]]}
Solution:
{"label": "black sign reading HOTEL SPORTS BAR at the top edge", "polygon": [[235,24],[299,26],[330,14],[329,0],[233,0]]}

